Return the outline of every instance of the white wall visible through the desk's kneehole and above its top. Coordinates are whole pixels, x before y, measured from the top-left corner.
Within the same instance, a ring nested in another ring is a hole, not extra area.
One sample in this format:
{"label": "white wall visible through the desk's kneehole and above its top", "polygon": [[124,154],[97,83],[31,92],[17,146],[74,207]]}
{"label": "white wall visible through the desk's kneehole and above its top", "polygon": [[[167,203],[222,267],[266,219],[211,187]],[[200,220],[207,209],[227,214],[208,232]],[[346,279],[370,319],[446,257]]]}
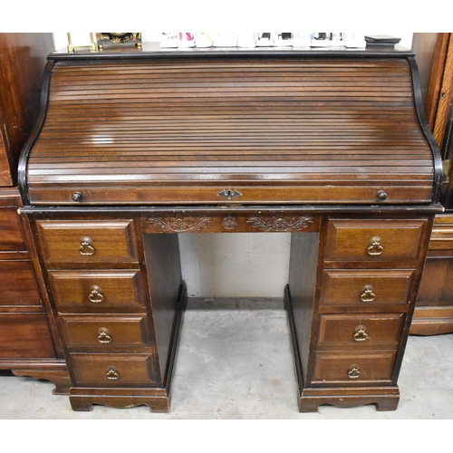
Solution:
{"label": "white wall visible through the desk's kneehole and above its top", "polygon": [[[410,48],[412,34],[390,34]],[[55,49],[67,45],[66,34],[53,34]],[[159,34],[142,34],[157,41]],[[283,297],[288,280],[291,236],[286,233],[179,235],[182,274],[189,296]]]}

